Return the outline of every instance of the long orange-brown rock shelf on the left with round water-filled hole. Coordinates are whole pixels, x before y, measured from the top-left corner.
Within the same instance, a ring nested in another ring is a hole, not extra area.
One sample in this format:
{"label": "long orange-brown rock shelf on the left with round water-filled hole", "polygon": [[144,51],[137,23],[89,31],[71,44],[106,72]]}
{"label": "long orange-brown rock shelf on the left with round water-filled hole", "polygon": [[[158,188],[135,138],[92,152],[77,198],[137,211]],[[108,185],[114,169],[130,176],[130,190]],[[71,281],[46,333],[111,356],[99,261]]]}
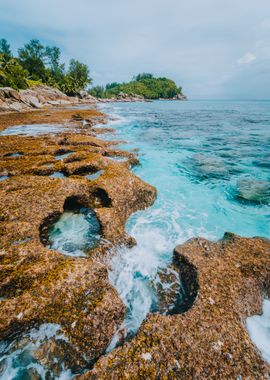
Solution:
{"label": "long orange-brown rock shelf on the left with round water-filled hole", "polygon": [[[136,162],[133,154],[95,137],[93,125],[104,121],[96,110],[0,115],[2,129],[56,120],[63,132],[55,136],[0,137],[0,173],[8,178],[0,182],[0,339],[16,338],[24,347],[30,329],[59,326],[64,339],[52,338],[31,351],[48,378],[59,375],[58,359],[64,369],[79,372],[104,354],[125,315],[108,280],[107,258],[114,244],[134,244],[125,232],[126,220],[156,195],[129,170]],[[111,160],[115,155],[125,161]],[[98,178],[86,178],[97,171],[102,171]],[[50,177],[54,172],[66,177]],[[102,240],[85,257],[48,247],[48,229],[67,204],[90,208],[99,220]]]}

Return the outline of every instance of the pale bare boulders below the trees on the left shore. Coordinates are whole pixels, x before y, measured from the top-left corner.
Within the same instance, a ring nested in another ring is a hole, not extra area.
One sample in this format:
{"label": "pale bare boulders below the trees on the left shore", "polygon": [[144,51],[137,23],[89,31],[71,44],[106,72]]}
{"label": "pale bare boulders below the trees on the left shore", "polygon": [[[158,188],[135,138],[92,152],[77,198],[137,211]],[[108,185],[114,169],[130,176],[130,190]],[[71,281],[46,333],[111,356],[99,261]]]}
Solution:
{"label": "pale bare boulders below the trees on the left shore", "polygon": [[0,87],[0,111],[22,111],[82,103],[95,104],[96,99],[84,91],[78,97],[70,97],[46,85],[36,85],[19,91]]}

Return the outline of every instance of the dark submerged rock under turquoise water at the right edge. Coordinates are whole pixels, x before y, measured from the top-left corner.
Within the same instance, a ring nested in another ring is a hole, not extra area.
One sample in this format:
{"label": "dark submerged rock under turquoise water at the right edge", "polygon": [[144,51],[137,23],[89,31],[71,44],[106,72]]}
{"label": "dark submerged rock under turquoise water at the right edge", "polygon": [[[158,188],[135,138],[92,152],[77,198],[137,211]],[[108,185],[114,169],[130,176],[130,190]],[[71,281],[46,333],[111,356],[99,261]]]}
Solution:
{"label": "dark submerged rock under turquoise water at the right edge", "polygon": [[270,181],[243,179],[237,182],[236,197],[257,204],[270,204]]}

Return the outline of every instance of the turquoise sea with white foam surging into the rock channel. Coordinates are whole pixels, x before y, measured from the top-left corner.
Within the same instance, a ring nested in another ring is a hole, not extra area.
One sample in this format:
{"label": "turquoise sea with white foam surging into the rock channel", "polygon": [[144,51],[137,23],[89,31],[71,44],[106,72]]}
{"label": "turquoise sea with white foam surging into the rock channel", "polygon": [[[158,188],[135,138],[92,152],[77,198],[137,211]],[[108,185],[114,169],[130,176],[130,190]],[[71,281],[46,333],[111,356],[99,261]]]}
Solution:
{"label": "turquoise sea with white foam surging into the rock channel", "polygon": [[[121,333],[136,333],[155,302],[152,283],[189,238],[217,240],[226,231],[270,237],[270,102],[118,103],[102,107],[139,148],[135,174],[158,190],[155,204],[134,214],[137,240],[120,248],[109,273],[127,306]],[[116,334],[110,351],[117,344]]]}

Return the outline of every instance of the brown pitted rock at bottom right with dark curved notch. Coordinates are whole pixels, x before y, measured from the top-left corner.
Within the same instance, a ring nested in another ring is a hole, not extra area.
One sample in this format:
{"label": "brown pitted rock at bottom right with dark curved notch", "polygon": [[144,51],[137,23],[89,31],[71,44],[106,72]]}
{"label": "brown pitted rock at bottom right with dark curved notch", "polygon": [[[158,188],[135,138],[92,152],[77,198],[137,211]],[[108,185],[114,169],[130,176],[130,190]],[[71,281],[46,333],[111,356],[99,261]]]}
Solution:
{"label": "brown pitted rock at bottom right with dark curved notch", "polygon": [[173,265],[190,301],[186,312],[150,314],[131,342],[80,379],[268,379],[245,321],[269,294],[270,241],[196,238],[175,249]]}

